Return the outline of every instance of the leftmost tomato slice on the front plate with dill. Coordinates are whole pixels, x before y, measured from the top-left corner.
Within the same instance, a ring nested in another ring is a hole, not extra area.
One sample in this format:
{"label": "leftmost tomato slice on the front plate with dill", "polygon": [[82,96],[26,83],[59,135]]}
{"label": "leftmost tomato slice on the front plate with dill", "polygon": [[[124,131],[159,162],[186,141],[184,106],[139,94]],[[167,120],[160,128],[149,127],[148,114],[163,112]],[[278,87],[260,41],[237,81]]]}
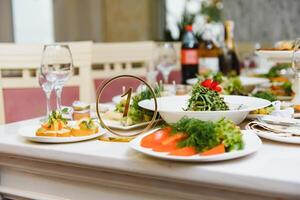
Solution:
{"label": "leftmost tomato slice on the front plate with dill", "polygon": [[161,142],[169,137],[170,129],[160,129],[145,136],[141,141],[141,146],[145,148],[154,148],[160,146]]}

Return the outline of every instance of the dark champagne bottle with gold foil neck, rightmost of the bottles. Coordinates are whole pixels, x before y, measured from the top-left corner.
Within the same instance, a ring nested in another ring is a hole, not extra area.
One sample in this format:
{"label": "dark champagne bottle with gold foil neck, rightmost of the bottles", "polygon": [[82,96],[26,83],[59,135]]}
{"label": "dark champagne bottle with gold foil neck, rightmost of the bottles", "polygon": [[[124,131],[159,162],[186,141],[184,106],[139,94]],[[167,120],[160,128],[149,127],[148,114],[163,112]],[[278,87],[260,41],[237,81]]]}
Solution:
{"label": "dark champagne bottle with gold foil neck, rightmost of the bottles", "polygon": [[220,71],[226,75],[234,72],[236,75],[240,75],[240,62],[235,52],[234,46],[234,22],[225,21],[224,23],[225,40],[223,50],[219,55],[219,67]]}

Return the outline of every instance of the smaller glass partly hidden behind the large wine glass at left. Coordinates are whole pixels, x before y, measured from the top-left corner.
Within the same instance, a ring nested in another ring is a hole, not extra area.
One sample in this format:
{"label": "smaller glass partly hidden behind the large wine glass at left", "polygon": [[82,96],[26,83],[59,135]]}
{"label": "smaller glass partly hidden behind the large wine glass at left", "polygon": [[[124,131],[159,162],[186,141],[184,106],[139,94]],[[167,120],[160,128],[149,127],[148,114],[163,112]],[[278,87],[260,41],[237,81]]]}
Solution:
{"label": "smaller glass partly hidden behind the large wine glass at left", "polygon": [[39,85],[41,86],[41,88],[44,91],[44,94],[46,97],[46,103],[47,103],[46,117],[41,120],[41,121],[44,121],[45,119],[47,119],[47,117],[50,115],[50,112],[51,112],[50,97],[51,97],[51,92],[53,90],[54,84],[52,82],[48,81],[42,73],[39,73],[38,81],[39,81]]}

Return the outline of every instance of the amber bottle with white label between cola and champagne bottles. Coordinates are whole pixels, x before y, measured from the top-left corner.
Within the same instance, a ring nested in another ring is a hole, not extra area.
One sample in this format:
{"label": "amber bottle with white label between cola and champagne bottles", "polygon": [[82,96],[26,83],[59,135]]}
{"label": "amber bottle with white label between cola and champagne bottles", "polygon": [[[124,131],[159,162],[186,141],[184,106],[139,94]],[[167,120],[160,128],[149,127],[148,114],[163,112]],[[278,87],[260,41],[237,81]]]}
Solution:
{"label": "amber bottle with white label between cola and champagne bottles", "polygon": [[206,30],[202,34],[201,42],[199,42],[198,56],[200,69],[218,72],[219,53],[220,48],[213,41],[211,30]]}

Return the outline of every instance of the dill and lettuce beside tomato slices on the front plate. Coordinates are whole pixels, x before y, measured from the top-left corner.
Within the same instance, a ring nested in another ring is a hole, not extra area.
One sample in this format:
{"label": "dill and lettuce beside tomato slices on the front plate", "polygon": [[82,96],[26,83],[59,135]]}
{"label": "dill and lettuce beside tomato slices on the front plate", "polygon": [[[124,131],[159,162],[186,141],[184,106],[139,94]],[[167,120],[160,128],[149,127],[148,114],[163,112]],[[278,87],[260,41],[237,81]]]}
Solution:
{"label": "dill and lettuce beside tomato slices on the front plate", "polygon": [[242,149],[244,146],[240,128],[228,119],[213,123],[182,118],[171,127],[174,133],[185,133],[189,136],[179,142],[180,147],[193,146],[198,152],[209,150],[221,143],[227,152]]}

